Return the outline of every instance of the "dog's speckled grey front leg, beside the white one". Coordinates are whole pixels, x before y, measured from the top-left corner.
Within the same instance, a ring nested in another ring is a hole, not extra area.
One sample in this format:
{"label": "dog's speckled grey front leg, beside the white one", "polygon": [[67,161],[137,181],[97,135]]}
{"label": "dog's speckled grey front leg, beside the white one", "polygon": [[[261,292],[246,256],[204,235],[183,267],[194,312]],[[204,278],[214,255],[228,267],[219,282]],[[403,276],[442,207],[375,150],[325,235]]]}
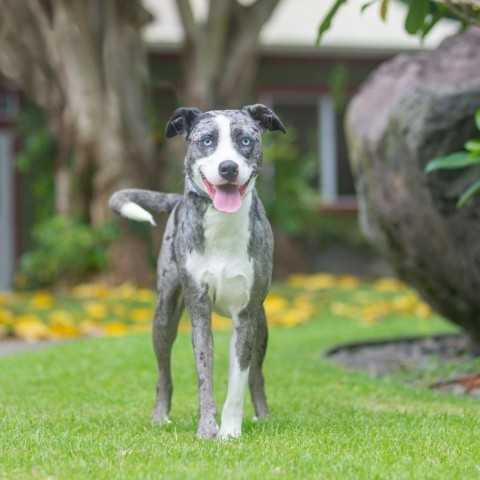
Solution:
{"label": "dog's speckled grey front leg, beside the white one", "polygon": [[212,308],[206,292],[200,298],[197,296],[196,301],[188,303],[198,381],[197,437],[208,440],[218,435],[217,407],[213,397]]}

